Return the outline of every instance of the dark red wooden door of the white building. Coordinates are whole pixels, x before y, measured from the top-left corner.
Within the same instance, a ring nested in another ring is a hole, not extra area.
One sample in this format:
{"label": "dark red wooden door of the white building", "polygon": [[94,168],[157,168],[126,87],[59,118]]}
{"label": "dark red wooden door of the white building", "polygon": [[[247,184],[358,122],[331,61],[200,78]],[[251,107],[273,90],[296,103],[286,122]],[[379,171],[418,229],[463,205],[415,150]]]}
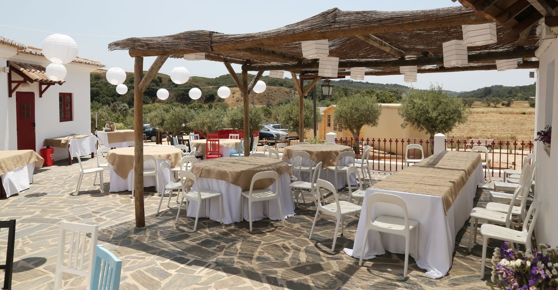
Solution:
{"label": "dark red wooden door of the white building", "polygon": [[35,94],[16,92],[17,150],[35,148]]}

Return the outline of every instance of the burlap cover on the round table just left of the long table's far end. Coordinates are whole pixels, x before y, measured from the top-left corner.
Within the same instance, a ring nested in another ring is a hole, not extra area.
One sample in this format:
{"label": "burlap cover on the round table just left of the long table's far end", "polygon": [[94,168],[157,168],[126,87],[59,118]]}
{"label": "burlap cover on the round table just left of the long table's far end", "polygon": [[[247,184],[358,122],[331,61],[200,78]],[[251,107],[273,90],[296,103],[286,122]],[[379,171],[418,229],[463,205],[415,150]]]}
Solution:
{"label": "burlap cover on the round table just left of the long table's far end", "polygon": [[349,146],[336,144],[302,144],[285,147],[283,151],[283,160],[292,158],[295,151],[305,151],[310,155],[310,159],[315,163],[322,163],[322,168],[335,166],[337,156],[344,151],[353,151]]}

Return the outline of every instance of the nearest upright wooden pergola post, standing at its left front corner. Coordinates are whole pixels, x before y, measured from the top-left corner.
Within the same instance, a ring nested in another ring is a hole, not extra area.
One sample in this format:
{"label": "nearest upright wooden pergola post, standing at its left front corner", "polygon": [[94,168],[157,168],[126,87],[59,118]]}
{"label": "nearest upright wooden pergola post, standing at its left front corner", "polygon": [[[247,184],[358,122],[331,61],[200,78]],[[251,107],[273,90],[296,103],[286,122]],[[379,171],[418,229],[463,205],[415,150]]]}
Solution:
{"label": "nearest upright wooden pergola post, standing at its left front corner", "polygon": [[134,205],[136,228],[145,227],[143,208],[143,57],[134,58]]}

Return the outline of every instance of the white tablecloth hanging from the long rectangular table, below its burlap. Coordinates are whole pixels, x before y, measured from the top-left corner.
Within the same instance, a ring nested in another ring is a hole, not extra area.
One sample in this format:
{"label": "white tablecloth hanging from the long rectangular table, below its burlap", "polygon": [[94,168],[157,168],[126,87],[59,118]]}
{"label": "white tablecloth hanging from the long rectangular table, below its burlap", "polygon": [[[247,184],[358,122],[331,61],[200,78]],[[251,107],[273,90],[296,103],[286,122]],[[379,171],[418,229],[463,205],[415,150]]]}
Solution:
{"label": "white tablecloth hanging from the long rectangular table, below its burlap", "polygon": [[[469,219],[473,209],[473,199],[477,193],[477,185],[484,184],[482,165],[470,176],[469,180],[459,192],[458,197],[444,214],[444,205],[441,196],[405,193],[383,189],[366,190],[362,212],[360,212],[357,233],[354,237],[354,248],[345,248],[345,253],[355,258],[360,258],[366,222],[376,219],[379,215],[393,215],[403,217],[401,208],[391,204],[376,204],[372,212],[367,212],[366,204],[369,196],[375,192],[391,193],[401,196],[407,204],[408,217],[419,221],[419,257],[415,253],[415,235],[411,234],[409,254],[417,261],[417,266],[426,270],[426,277],[444,277],[453,262],[455,249],[455,235]],[[368,233],[367,244],[364,250],[364,259],[375,258],[374,255],[386,253],[405,254],[405,238],[400,235],[379,233],[371,230]]]}

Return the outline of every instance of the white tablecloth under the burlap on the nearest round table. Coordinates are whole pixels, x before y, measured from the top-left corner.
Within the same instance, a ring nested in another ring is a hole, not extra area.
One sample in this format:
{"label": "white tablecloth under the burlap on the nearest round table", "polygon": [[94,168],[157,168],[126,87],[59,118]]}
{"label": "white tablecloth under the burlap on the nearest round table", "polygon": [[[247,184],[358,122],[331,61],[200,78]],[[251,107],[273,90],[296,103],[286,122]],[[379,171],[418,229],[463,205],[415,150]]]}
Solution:
{"label": "white tablecloth under the burlap on the nearest round table", "polygon": [[[284,173],[279,176],[281,183],[279,194],[281,197],[281,207],[283,208],[283,218],[295,215],[295,203],[292,200],[290,184],[290,175]],[[239,186],[230,184],[227,181],[213,178],[198,178],[198,185],[201,189],[210,189],[218,191],[223,194],[223,223],[232,224],[238,223],[240,219],[240,195],[242,189]],[[270,188],[275,190],[276,183],[273,183]],[[184,200],[186,203],[186,200]],[[205,201],[206,215],[215,221],[219,221],[219,199],[208,199]],[[277,200],[270,201],[270,213],[267,214],[267,201],[257,201],[252,203],[252,222],[269,217],[273,220],[281,219]],[[185,204],[183,204],[185,206]],[[248,199],[244,198],[244,220],[248,220]],[[190,201],[187,210],[187,217],[195,218],[196,209],[198,208],[197,201]],[[204,209],[200,209],[200,217],[204,217]]]}

